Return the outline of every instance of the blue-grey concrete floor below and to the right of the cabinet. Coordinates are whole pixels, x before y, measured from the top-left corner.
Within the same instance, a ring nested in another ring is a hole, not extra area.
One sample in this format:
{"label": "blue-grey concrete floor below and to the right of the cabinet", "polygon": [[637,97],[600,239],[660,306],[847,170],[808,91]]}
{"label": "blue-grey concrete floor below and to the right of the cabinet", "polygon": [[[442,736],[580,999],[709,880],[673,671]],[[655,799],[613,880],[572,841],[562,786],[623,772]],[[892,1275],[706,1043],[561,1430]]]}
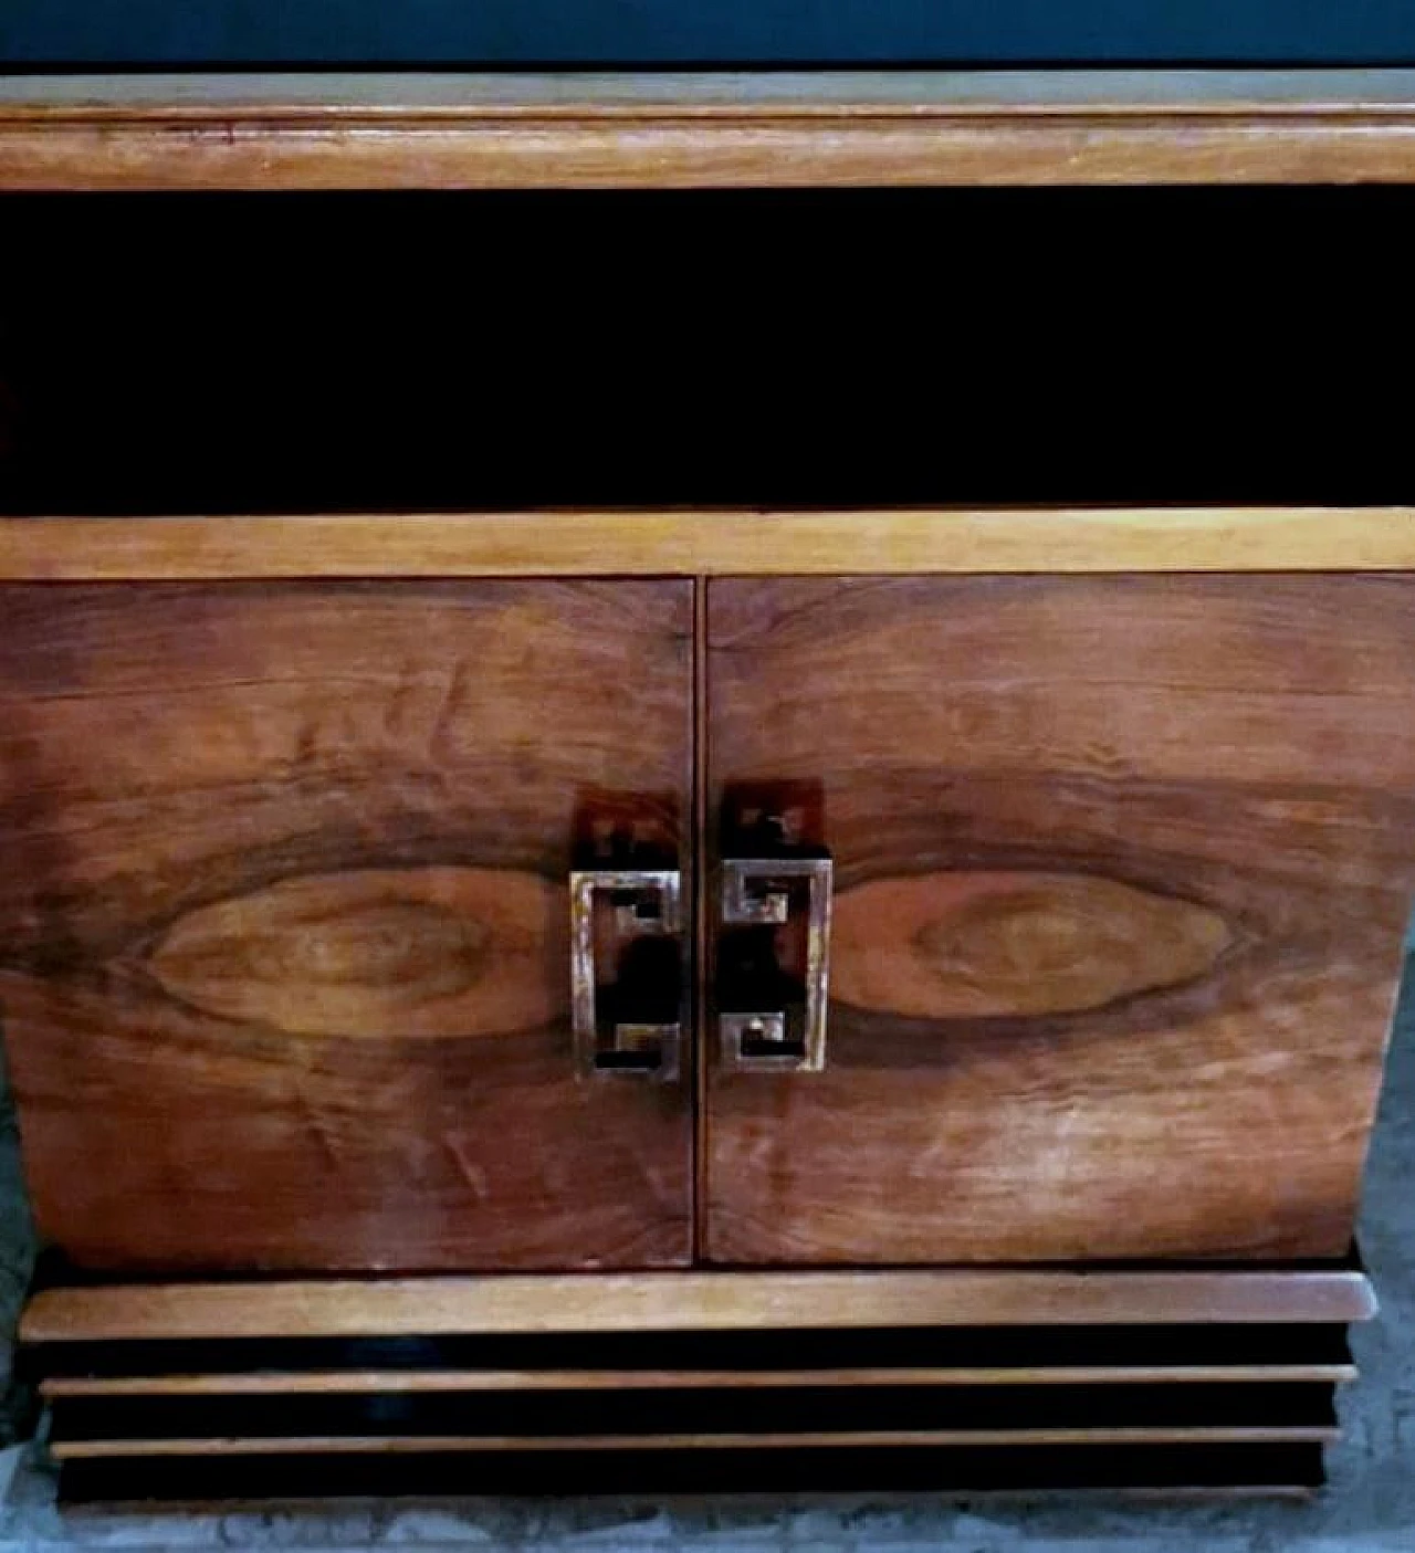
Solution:
{"label": "blue-grey concrete floor below and to the right of the cabinet", "polygon": [[[14,1447],[0,1452],[0,1553],[221,1547],[1171,1553],[1182,1544],[1205,1553],[1415,1553],[1415,960],[1410,969],[1361,1232],[1382,1314],[1353,1337],[1362,1379],[1342,1398],[1345,1438],[1330,1457],[1331,1485],[1311,1502],[1140,1505],[1076,1497],[968,1505],[907,1496],[419,1506],[349,1500],[151,1516],[57,1510],[47,1469],[30,1447]],[[0,1255],[0,1275],[8,1267]]]}

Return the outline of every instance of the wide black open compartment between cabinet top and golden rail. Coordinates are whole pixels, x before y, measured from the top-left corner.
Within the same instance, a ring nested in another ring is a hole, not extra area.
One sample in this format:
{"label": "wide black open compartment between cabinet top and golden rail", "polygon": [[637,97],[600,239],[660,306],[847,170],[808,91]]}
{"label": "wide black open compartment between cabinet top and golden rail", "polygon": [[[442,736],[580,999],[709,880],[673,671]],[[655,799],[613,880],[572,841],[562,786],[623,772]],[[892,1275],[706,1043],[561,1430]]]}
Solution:
{"label": "wide black open compartment between cabinet top and golden rail", "polygon": [[0,511],[1410,500],[1415,191],[0,199]]}

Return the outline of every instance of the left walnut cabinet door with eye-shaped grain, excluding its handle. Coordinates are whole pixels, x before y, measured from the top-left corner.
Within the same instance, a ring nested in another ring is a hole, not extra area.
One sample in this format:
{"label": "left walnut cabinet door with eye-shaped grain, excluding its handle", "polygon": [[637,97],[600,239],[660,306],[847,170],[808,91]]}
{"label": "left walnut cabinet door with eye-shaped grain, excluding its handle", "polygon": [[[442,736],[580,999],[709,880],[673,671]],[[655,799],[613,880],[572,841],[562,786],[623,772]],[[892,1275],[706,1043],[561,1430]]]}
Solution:
{"label": "left walnut cabinet door with eye-shaped grain, excluding its handle", "polygon": [[683,1261],[687,1064],[576,1072],[567,879],[587,803],[685,851],[691,621],[687,582],[0,589],[42,1235],[123,1270]]}

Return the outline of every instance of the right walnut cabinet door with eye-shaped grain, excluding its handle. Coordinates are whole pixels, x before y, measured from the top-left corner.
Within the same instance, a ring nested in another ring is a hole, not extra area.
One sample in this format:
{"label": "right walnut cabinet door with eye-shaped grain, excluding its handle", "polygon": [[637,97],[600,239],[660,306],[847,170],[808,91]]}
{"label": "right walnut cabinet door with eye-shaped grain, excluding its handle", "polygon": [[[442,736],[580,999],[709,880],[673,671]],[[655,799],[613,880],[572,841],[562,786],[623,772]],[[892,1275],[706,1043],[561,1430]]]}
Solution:
{"label": "right walnut cabinet door with eye-shaped grain, excluding its handle", "polygon": [[710,804],[819,784],[834,859],[822,1070],[710,1027],[710,1256],[1344,1253],[1415,893],[1415,578],[708,598]]}

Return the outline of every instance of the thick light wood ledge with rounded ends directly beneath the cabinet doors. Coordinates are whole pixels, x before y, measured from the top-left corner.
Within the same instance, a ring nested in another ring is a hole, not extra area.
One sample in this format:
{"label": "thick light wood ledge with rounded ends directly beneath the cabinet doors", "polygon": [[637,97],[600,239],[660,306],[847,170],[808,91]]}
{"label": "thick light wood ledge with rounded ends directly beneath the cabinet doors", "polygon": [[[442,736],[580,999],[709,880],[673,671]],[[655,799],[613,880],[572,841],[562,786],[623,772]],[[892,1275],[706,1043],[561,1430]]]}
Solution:
{"label": "thick light wood ledge with rounded ends directly beneath the cabinet doors", "polygon": [[749,1328],[1362,1322],[1354,1269],[589,1273],[47,1289],[23,1342]]}

